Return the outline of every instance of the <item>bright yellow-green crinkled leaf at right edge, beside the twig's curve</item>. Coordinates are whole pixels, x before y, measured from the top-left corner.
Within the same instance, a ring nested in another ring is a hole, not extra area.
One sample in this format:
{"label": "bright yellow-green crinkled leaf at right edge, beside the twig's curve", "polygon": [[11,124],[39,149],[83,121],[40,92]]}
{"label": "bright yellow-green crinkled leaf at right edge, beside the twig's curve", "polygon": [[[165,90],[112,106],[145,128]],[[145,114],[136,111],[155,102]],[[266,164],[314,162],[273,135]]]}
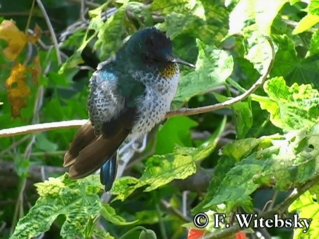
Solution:
{"label": "bright yellow-green crinkled leaf at right edge, beside the twig's curve", "polygon": [[283,77],[267,81],[264,90],[268,97],[253,96],[263,110],[270,113],[271,122],[285,130],[312,127],[319,119],[319,93],[311,85],[297,83],[286,86]]}

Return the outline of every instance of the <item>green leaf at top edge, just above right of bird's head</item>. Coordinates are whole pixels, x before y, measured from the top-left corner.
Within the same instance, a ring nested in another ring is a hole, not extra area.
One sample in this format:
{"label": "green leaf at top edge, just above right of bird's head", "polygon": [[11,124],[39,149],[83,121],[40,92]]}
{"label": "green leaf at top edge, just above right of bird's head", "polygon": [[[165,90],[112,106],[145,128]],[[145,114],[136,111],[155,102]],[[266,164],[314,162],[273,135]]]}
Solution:
{"label": "green leaf at top edge, just above right of bird's head", "polygon": [[218,44],[227,34],[228,10],[220,0],[155,0],[152,10],[165,15],[159,28],[174,39],[188,34],[206,44]]}

